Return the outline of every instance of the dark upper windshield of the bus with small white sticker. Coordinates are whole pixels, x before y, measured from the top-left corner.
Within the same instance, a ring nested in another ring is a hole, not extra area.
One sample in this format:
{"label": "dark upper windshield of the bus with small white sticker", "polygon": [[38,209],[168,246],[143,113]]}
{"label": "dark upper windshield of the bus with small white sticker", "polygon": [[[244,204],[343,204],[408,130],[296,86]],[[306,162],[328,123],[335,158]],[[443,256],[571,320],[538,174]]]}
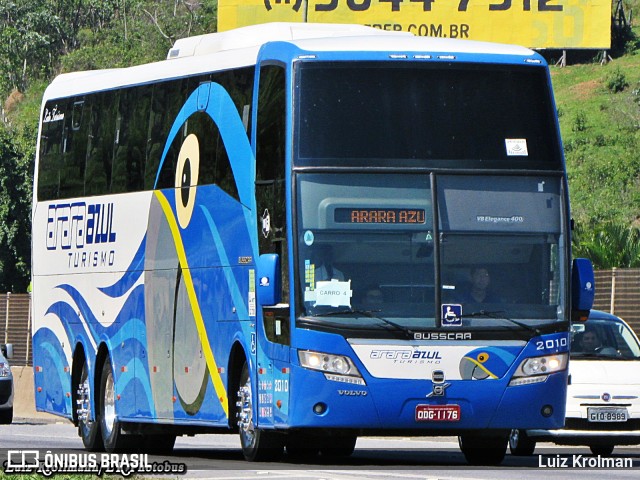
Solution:
{"label": "dark upper windshield of the bus with small white sticker", "polygon": [[562,171],[546,70],[446,62],[300,62],[301,166]]}

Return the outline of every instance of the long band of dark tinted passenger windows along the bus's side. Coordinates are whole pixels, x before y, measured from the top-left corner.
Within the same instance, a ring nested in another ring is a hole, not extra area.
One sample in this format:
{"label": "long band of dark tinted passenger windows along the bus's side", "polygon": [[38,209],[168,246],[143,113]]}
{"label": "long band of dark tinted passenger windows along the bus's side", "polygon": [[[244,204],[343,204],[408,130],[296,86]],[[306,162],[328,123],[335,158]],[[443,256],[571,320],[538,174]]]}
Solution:
{"label": "long band of dark tinted passenger windows along the bus's side", "polygon": [[186,99],[212,79],[230,95],[248,132],[253,72],[243,68],[48,102],[42,119],[38,198],[173,188],[180,147],[194,134],[202,155],[199,183],[215,183],[238,199],[224,139],[205,113],[184,122],[161,169],[160,160]]}

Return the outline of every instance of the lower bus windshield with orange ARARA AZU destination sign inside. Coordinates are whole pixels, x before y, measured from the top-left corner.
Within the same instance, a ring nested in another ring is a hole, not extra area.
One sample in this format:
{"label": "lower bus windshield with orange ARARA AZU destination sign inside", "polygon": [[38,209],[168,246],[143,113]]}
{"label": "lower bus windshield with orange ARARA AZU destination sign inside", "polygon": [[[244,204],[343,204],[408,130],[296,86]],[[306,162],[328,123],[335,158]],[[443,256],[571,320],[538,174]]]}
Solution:
{"label": "lower bus windshield with orange ARARA AZU destination sign inside", "polygon": [[434,207],[430,175],[299,174],[299,314],[381,329],[444,326],[447,308],[474,329],[564,320],[560,179],[437,185]]}

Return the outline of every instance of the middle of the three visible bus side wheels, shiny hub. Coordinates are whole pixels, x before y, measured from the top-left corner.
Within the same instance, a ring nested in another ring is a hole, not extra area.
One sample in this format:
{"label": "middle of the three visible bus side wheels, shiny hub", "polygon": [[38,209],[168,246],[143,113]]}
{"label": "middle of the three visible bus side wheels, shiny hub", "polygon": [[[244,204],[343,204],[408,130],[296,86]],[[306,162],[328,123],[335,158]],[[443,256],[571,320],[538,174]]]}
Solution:
{"label": "middle of the three visible bus side wheels, shiny hub", "polygon": [[[100,375],[100,406],[98,409],[100,432],[104,449],[108,453],[131,450],[139,439],[133,435],[122,433],[121,424],[116,417],[116,396],[111,359],[107,356],[102,364]],[[138,445],[140,445],[138,443]]]}

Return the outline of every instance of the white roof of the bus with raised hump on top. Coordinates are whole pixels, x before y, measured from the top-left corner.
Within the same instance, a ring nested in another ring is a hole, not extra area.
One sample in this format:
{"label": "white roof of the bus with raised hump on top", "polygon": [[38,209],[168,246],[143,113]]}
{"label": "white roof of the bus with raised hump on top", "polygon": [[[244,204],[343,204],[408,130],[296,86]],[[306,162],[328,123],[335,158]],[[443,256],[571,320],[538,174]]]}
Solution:
{"label": "white roof of the bus with raised hump on top", "polygon": [[286,42],[301,52],[535,55],[515,45],[416,37],[363,25],[268,23],[178,40],[169,50],[168,59],[155,63],[61,74],[45,91],[44,100],[255,65],[260,48],[270,42]]}

